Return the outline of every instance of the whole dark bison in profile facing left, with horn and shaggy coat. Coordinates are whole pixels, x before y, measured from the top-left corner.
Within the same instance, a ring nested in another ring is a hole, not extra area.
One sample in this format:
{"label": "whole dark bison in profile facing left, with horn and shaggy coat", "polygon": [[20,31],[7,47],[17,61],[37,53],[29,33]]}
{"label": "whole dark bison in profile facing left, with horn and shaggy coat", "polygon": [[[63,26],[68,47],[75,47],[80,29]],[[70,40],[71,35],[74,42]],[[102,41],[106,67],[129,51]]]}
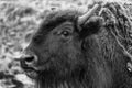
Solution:
{"label": "whole dark bison in profile facing left, with horn and shaggy coat", "polygon": [[86,13],[50,12],[21,66],[37,88],[132,88],[131,28],[118,2],[95,3]]}

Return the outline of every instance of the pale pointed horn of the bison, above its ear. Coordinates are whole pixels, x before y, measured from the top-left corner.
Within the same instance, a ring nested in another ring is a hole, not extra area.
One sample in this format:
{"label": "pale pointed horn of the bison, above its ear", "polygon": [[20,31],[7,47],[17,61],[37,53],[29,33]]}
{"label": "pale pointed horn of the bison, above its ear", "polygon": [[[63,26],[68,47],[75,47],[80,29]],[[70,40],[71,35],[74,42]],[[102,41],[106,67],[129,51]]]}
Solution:
{"label": "pale pointed horn of the bison, above its ear", "polygon": [[95,4],[92,9],[90,9],[87,13],[78,18],[78,24],[84,24],[100,7],[100,4]]}

